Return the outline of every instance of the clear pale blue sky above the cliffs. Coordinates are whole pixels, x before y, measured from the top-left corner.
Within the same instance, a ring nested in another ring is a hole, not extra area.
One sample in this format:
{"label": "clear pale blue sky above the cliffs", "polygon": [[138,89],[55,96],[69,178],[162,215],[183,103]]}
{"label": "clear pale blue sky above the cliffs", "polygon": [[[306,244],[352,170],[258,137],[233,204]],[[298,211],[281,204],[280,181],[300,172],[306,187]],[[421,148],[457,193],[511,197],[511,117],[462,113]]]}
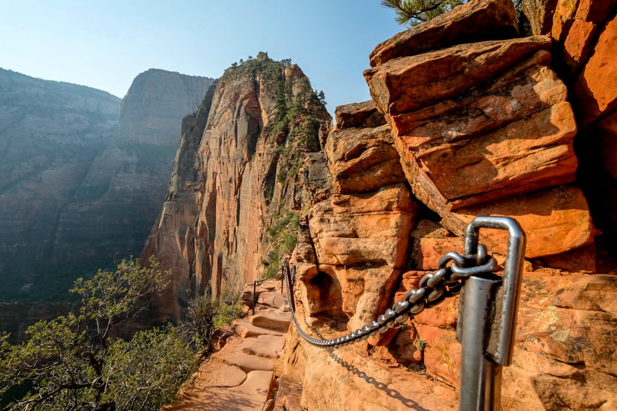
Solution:
{"label": "clear pale blue sky above the cliffs", "polygon": [[0,0],[0,67],[123,97],[147,69],[220,77],[267,51],[291,58],[328,110],[370,99],[362,76],[404,27],[380,0]]}

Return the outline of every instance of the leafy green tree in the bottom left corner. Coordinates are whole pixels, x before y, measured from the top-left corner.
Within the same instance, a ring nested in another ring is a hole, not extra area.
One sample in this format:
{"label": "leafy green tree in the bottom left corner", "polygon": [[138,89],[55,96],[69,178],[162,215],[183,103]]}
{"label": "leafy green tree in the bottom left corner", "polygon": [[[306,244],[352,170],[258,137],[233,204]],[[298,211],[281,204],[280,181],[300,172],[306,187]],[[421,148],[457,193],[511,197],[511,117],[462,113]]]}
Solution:
{"label": "leafy green tree in the bottom left corner", "polygon": [[167,285],[158,262],[123,260],[115,271],[77,279],[78,314],[39,321],[29,339],[0,336],[0,406],[5,410],[155,410],[173,398],[197,364],[178,329],[119,337]]}

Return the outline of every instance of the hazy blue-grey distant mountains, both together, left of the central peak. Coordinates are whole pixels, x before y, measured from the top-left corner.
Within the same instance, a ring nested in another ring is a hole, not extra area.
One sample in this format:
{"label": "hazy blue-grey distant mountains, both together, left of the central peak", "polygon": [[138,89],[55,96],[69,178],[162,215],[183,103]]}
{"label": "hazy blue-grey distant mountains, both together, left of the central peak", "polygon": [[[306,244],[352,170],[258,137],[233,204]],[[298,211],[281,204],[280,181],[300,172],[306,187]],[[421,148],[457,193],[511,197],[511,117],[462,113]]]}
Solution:
{"label": "hazy blue-grey distant mountains, both together, left of the central peak", "polygon": [[151,69],[120,100],[0,70],[0,299],[63,301],[76,277],[138,255],[182,117],[212,82]]}

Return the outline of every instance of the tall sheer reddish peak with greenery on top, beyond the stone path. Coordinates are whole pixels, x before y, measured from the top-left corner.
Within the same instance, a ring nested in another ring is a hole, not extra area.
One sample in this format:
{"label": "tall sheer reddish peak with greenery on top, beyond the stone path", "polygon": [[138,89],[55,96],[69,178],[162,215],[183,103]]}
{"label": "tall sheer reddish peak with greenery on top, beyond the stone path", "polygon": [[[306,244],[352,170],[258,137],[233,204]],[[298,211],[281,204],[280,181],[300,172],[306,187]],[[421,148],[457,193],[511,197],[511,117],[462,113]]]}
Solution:
{"label": "tall sheer reddish peak with greenery on top, beyond the stone path", "polygon": [[167,198],[142,258],[173,279],[157,319],[178,319],[210,282],[213,295],[261,277],[295,245],[304,201],[298,171],[330,116],[295,65],[233,66],[184,119]]}

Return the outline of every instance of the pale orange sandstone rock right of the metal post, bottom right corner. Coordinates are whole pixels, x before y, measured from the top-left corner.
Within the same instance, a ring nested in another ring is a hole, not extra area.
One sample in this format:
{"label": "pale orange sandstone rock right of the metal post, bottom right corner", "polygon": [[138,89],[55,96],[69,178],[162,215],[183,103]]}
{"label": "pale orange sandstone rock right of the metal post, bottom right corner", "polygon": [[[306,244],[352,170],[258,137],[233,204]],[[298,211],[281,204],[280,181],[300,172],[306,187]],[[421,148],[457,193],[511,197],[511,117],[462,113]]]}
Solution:
{"label": "pale orange sandstone rock right of the metal post, bottom right corner", "polygon": [[537,409],[531,407],[538,400],[547,410],[617,406],[617,356],[609,343],[617,338],[616,281],[609,275],[525,278],[513,365],[504,370],[506,406]]}

